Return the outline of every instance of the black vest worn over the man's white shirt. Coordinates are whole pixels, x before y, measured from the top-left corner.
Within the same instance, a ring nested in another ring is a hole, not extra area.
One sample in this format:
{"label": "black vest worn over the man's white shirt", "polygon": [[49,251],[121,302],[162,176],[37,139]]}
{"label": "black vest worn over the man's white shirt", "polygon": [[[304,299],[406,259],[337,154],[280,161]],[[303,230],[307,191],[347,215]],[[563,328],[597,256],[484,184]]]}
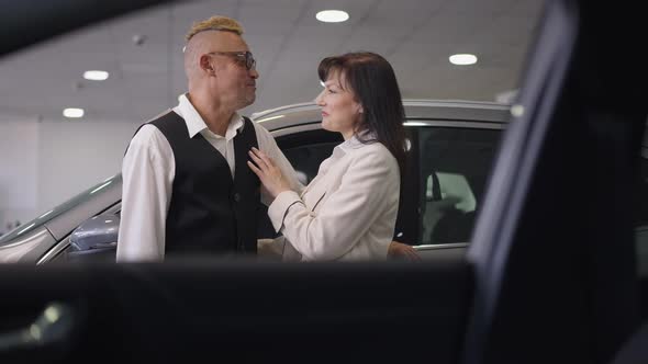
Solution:
{"label": "black vest worn over the man's white shirt", "polygon": [[260,181],[246,162],[258,143],[253,122],[244,120],[234,137],[234,180],[225,158],[201,134],[189,138],[178,114],[148,123],[167,138],[176,161],[165,253],[256,253]]}

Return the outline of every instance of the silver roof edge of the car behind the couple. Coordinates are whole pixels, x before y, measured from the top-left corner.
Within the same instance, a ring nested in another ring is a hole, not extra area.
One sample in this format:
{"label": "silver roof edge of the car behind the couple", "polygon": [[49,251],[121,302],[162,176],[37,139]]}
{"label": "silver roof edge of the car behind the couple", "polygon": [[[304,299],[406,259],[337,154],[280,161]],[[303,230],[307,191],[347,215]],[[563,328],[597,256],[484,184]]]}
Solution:
{"label": "silver roof edge of the car behind the couple", "polygon": [[[506,123],[510,105],[495,102],[463,100],[404,99],[403,106],[409,121],[443,120],[462,122]],[[322,120],[320,106],[314,102],[297,103],[254,113],[250,118],[268,130],[319,123]]]}

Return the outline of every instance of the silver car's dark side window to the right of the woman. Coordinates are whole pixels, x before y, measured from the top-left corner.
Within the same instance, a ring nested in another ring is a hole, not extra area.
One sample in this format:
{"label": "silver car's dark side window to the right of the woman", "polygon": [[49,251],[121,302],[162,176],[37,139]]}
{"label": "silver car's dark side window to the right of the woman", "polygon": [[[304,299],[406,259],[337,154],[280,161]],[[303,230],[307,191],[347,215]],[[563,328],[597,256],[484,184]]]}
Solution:
{"label": "silver car's dark side window to the right of the woman", "polygon": [[501,130],[418,127],[418,242],[468,242]]}

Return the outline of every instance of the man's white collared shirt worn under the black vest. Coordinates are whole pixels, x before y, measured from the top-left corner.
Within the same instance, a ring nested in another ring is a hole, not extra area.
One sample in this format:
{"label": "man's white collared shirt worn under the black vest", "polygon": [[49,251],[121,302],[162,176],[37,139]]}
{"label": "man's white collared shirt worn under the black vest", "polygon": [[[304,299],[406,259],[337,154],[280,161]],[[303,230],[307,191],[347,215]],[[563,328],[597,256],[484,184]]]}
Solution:
{"label": "man's white collared shirt worn under the black vest", "polygon": [[[179,98],[172,109],[187,123],[189,136],[201,134],[217,152],[223,155],[234,177],[234,136],[245,122],[235,113],[225,136],[212,133],[187,95]],[[270,133],[253,122],[259,149],[270,156],[298,191],[301,184]],[[249,168],[242,166],[242,168]],[[118,262],[163,261],[165,255],[165,223],[176,172],[174,151],[164,134],[153,125],[144,125],[131,140],[122,163],[122,213],[118,239]],[[271,197],[261,189],[261,201]]]}

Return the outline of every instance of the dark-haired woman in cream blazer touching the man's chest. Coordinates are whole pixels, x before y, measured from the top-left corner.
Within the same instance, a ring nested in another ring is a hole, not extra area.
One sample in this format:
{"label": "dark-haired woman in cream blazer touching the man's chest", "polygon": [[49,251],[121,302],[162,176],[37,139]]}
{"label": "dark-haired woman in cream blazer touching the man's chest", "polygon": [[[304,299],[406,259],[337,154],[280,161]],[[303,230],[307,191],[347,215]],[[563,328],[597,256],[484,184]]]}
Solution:
{"label": "dark-haired woman in cream blazer touching the man's chest", "polygon": [[249,168],[273,202],[268,215],[290,242],[283,255],[303,261],[387,259],[415,254],[392,242],[405,164],[404,110],[391,65],[373,53],[324,58],[315,99],[322,127],[344,143],[298,194],[271,158],[253,148]]}

